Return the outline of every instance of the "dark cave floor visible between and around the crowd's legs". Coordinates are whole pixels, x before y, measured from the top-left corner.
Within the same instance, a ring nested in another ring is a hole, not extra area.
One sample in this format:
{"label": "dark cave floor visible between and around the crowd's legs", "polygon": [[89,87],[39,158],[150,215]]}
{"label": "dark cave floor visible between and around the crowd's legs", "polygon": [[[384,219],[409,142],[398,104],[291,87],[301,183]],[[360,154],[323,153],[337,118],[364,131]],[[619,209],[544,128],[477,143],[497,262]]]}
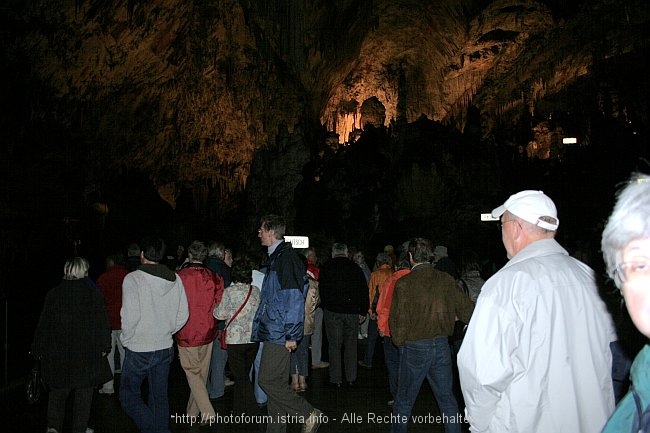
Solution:
{"label": "dark cave floor visible between and around the crowd's legs", "polygon": [[[375,362],[372,369],[359,367],[358,378],[353,387],[340,390],[327,386],[328,369],[312,369],[307,379],[309,388],[302,395],[316,408],[320,409],[327,422],[322,424],[319,432],[389,432],[390,424],[380,422],[389,418],[391,407],[388,406],[390,393],[388,378],[383,360],[381,343],[378,342]],[[363,353],[360,344],[359,354]],[[118,385],[116,380],[116,386]],[[101,395],[97,391],[93,397],[92,412],[89,427],[95,433],[137,433],[138,429],[131,419],[122,411],[118,400],[118,392],[112,395]],[[12,427],[13,431],[43,433],[46,431],[47,395],[40,402],[28,404],[24,397],[22,382],[14,383],[0,390],[2,400],[2,421],[0,424]],[[185,413],[189,387],[185,375],[176,359],[171,367],[169,379],[170,400],[170,429],[171,432],[264,432],[264,425],[243,426],[236,424],[213,424],[200,427],[190,425],[182,418]],[[212,400],[218,415],[228,417],[232,409],[233,388],[227,387],[226,394]],[[68,404],[70,406],[70,402]],[[68,407],[68,412],[69,407]],[[409,432],[443,432],[442,424],[436,424],[433,419],[439,414],[433,394],[428,384],[423,384],[413,409],[413,416],[419,416],[421,422],[409,423]],[[175,417],[175,415],[177,415]],[[70,429],[70,413],[66,416],[64,432]],[[468,431],[467,425],[464,431]],[[289,424],[287,432],[300,432],[300,424]],[[60,432],[60,433],[64,433]]]}

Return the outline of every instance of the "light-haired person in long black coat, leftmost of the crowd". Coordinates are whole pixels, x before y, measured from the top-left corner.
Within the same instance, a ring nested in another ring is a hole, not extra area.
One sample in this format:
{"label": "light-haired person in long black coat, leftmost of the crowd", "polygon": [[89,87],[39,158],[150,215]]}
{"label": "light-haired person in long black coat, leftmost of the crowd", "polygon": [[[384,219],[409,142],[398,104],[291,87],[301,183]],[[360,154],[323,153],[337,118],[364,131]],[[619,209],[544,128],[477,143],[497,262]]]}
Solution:
{"label": "light-haired person in long black coat, leftmost of the crowd", "polygon": [[50,388],[48,433],[62,431],[66,400],[73,391],[72,431],[85,433],[93,389],[113,377],[106,358],[111,325],[102,295],[86,281],[88,268],[81,257],[66,261],[63,281],[45,297],[34,335],[32,354],[41,360]]}

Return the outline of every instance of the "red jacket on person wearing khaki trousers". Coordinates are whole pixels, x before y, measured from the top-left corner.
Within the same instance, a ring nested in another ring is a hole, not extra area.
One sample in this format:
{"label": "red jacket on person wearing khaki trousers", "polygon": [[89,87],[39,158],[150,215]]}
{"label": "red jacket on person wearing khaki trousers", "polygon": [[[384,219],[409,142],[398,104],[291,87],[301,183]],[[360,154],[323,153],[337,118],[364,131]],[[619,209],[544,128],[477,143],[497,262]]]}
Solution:
{"label": "red jacket on person wearing khaki trousers", "polygon": [[223,297],[223,278],[201,263],[189,263],[178,271],[185,286],[190,317],[174,338],[181,347],[203,346],[217,337],[214,307]]}

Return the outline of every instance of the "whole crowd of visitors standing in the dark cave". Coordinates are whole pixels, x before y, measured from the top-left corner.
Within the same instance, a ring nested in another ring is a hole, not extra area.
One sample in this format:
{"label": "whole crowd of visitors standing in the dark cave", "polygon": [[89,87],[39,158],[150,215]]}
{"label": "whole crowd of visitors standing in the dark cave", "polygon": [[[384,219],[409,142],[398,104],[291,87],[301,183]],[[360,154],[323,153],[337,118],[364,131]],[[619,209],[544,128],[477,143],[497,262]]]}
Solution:
{"label": "whole crowd of visitors standing in the dark cave", "polygon": [[[170,265],[164,241],[150,237],[126,258],[109,255],[96,284],[88,261],[73,257],[45,299],[32,348],[50,389],[47,432],[62,431],[70,394],[73,432],[92,431],[95,389],[119,394],[141,432],[169,432],[175,356],[187,416],[199,424],[212,424],[214,399],[234,383],[233,413],[265,416],[267,432],[290,423],[316,432],[326,414],[304,397],[310,369],[328,368],[333,389],[354,387],[377,349],[393,433],[408,430],[425,379],[447,433],[650,432],[649,349],[631,367],[632,385],[616,388],[627,364],[615,323],[594,271],[555,240],[552,199],[521,191],[492,216],[509,261],[487,281],[475,255],[455,262],[422,237],[386,246],[372,266],[335,242],[319,263],[313,247],[285,241],[274,214],[260,220],[263,257],[195,240]],[[632,321],[650,336],[649,177],[634,175],[620,192],[602,251]]]}

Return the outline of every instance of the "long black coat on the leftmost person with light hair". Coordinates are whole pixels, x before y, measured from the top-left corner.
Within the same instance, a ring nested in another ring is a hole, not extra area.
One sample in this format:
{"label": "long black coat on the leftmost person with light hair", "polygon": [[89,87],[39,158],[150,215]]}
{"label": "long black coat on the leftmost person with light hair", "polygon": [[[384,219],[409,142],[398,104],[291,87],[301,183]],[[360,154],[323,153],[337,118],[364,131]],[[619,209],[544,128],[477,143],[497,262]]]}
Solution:
{"label": "long black coat on the leftmost person with light hair", "polygon": [[45,297],[32,353],[52,388],[85,388],[112,379],[111,325],[102,295],[84,280],[63,280]]}

